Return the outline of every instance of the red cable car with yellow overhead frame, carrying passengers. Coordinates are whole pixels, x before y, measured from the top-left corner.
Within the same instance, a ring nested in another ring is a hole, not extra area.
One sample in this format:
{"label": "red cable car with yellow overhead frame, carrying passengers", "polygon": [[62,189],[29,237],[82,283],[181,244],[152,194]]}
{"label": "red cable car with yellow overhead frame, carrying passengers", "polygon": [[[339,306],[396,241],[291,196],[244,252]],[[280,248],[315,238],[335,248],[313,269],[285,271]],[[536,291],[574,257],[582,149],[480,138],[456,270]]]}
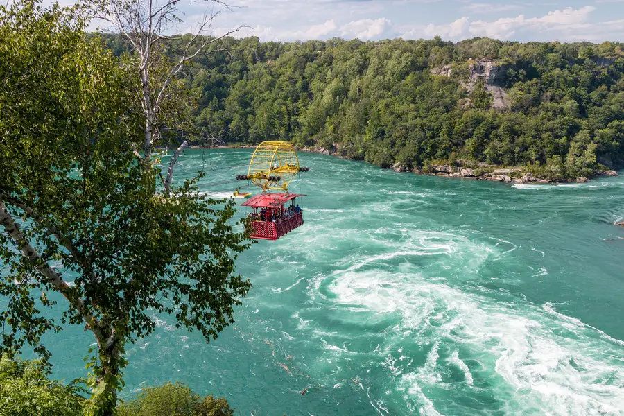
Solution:
{"label": "red cable car with yellow overhead frame, carrying passengers", "polygon": [[[288,184],[297,173],[309,170],[299,166],[295,148],[286,141],[263,141],[258,145],[247,175],[236,176],[238,180],[251,180],[262,189],[261,194],[242,204],[253,209],[249,214],[252,239],[277,240],[303,225],[301,208],[295,206],[294,200],[304,194],[288,193]],[[291,206],[284,209],[289,201]]]}

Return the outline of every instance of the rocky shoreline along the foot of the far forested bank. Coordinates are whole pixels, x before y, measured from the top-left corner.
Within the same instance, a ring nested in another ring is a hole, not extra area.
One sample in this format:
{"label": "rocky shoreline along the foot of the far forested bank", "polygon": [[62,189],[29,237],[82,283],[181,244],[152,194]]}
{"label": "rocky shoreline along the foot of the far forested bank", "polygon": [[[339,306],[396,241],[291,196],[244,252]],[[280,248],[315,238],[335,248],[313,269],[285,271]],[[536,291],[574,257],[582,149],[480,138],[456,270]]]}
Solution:
{"label": "rocky shoreline along the foot of the far forested bank", "polygon": [[[323,155],[335,155],[327,148],[300,148],[302,152],[322,153]],[[459,161],[458,161],[459,162]],[[401,163],[395,163],[390,166],[397,173],[416,173],[417,175],[435,175],[442,177],[461,177],[463,179],[473,180],[491,180],[494,182],[508,182],[516,184],[551,184],[563,182],[587,182],[589,178],[578,177],[576,180],[550,180],[545,177],[537,177],[523,168],[505,168],[485,163],[478,164],[477,167],[471,168],[461,165],[451,164],[432,164],[426,168],[412,168]],[[616,171],[607,170],[596,172],[596,175],[618,176]]]}

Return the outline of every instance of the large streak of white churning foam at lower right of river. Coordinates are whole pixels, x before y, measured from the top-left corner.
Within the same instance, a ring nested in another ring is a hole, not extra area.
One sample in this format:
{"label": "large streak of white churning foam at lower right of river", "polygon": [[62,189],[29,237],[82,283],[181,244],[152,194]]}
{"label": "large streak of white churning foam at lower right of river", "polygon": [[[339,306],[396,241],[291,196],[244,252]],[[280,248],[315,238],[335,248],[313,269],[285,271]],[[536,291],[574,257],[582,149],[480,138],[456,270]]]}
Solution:
{"label": "large streak of white churning foam at lower right of river", "polygon": [[[399,324],[386,331],[388,345],[410,340],[433,345],[426,363],[403,374],[399,383],[423,414],[437,412],[422,388],[440,388],[441,342],[460,345],[468,355],[464,359],[485,363],[488,378],[497,380],[492,385],[497,396],[512,397],[507,404],[512,413],[535,408],[550,415],[624,411],[624,363],[617,358],[621,341],[560,316],[551,306],[496,303],[418,275],[353,266],[331,279],[336,304],[361,305],[375,315],[400,315]],[[386,346],[380,354],[389,350]],[[474,383],[467,365],[456,364],[467,383]]]}

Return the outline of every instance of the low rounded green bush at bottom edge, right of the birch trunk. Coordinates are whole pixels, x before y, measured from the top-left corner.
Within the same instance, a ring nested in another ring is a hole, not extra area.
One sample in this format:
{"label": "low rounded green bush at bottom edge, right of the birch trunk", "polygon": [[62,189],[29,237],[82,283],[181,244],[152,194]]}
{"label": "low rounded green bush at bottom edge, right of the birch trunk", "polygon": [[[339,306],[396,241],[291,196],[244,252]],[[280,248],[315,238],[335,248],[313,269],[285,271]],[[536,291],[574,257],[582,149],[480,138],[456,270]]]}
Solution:
{"label": "low rounded green bush at bottom edge, right of the birch trunk", "polygon": [[186,385],[167,383],[146,388],[118,408],[119,416],[233,416],[225,398],[201,397]]}

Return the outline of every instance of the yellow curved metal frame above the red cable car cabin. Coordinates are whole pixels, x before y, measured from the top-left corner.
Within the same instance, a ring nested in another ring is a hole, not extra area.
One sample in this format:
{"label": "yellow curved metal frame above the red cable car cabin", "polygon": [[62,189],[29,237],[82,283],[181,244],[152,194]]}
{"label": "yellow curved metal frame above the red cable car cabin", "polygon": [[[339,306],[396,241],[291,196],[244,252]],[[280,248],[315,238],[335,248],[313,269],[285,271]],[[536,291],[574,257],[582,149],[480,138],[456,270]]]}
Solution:
{"label": "yellow curved metal frame above the red cable car cabin", "polygon": [[[299,157],[287,141],[263,141],[254,150],[249,164],[248,177],[262,191],[288,191],[288,184],[299,173]],[[269,177],[279,177],[277,181]]]}

